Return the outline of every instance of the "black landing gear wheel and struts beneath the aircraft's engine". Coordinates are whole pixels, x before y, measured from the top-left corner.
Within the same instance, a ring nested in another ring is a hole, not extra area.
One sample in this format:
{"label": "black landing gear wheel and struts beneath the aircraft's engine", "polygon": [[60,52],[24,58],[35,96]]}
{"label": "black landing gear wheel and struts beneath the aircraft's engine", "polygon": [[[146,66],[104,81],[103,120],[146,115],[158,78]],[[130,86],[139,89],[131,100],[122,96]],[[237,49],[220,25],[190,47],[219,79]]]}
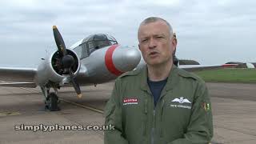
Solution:
{"label": "black landing gear wheel and struts beneath the aircraft's engine", "polygon": [[42,92],[46,98],[45,100],[45,109],[50,111],[58,111],[60,108],[58,107],[57,89],[54,89],[55,92],[50,93],[49,87],[41,87]]}

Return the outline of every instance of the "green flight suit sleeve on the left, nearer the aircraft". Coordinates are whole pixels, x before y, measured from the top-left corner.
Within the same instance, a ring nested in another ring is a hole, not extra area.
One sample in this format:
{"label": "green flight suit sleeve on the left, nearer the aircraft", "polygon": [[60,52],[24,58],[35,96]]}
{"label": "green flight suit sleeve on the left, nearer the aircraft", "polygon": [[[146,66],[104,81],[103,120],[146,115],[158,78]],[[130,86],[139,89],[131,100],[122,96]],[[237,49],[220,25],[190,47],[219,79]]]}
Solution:
{"label": "green flight suit sleeve on the left, nearer the aircraft", "polygon": [[122,130],[122,110],[119,105],[117,81],[114,84],[114,89],[110,100],[105,107],[105,125],[114,126],[114,130],[105,130],[104,143],[105,144],[128,144],[126,138],[123,137]]}

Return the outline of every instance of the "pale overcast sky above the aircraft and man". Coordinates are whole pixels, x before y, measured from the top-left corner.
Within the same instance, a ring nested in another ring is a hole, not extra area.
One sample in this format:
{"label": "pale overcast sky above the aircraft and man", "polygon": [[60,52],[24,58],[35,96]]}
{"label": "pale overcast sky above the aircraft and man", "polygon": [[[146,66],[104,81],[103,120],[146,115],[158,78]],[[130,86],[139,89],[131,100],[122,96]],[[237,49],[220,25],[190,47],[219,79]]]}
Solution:
{"label": "pale overcast sky above the aircraft and man", "polygon": [[97,33],[138,46],[138,25],[150,16],[173,26],[178,58],[201,64],[256,62],[253,0],[8,0],[0,6],[0,66],[37,66],[46,51],[57,50],[53,25],[66,46]]}

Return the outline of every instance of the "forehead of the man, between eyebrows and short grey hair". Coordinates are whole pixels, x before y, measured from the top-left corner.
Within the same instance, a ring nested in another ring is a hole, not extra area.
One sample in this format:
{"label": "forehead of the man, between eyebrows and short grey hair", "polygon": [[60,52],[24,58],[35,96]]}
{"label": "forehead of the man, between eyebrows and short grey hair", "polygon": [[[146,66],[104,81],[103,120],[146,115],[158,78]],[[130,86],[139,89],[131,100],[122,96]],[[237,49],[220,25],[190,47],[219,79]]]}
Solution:
{"label": "forehead of the man, between eyebrows and short grey hair", "polygon": [[138,29],[138,37],[145,37],[151,34],[169,34],[170,29],[166,22],[157,21],[142,24]]}

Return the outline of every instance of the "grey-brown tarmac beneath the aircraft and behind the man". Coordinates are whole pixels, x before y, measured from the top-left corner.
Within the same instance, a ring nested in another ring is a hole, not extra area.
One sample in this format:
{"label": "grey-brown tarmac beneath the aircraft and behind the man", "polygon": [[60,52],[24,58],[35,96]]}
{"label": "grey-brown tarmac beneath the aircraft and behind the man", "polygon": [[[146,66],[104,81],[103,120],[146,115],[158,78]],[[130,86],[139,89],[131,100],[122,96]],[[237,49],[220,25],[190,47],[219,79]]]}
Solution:
{"label": "grey-brown tarmac beneath the aircraft and behind the man", "polygon": [[[103,109],[113,85],[109,82],[82,87],[80,99],[73,88],[62,88],[58,93],[62,110],[54,112],[44,109],[44,97],[38,88],[0,87],[0,144],[102,144],[102,130],[50,132],[22,130],[22,126],[102,126]],[[207,86],[214,115],[212,143],[256,143],[256,84],[207,83]]]}

